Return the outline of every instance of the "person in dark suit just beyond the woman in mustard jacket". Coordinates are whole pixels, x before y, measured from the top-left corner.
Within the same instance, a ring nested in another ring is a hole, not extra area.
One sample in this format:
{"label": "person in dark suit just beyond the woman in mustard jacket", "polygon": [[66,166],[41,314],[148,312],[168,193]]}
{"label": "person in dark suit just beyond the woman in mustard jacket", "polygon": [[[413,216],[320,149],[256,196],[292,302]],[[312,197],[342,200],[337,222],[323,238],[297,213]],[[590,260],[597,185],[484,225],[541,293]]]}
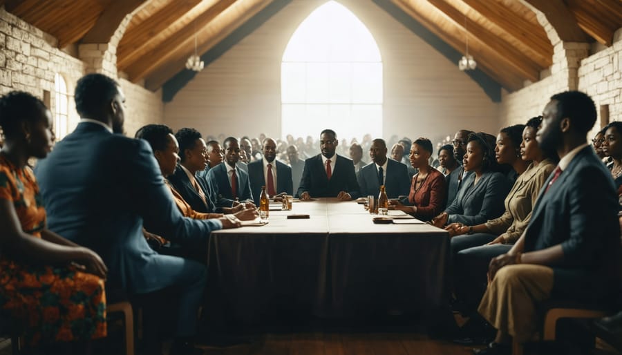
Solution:
{"label": "person in dark suit just beyond the woman in mustard jacket", "polygon": [[197,176],[207,166],[207,144],[194,128],[181,128],[175,138],[179,144],[180,162],[175,172],[169,175],[169,182],[194,211],[216,212],[216,205],[211,200],[213,192],[205,180]]}

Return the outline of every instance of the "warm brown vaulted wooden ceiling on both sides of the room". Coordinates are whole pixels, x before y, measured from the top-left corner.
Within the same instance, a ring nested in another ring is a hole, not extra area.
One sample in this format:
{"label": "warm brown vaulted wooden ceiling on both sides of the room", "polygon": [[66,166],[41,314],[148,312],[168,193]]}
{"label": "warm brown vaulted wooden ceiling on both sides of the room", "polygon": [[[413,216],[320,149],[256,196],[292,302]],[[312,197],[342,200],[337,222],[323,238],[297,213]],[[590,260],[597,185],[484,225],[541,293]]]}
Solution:
{"label": "warm brown vaulted wooden ceiling on both sides of the room", "polygon": [[[8,12],[50,33],[59,48],[102,43],[124,16],[134,15],[117,47],[117,68],[131,81],[161,88],[185,70],[186,59],[209,52],[279,0],[0,0]],[[283,0],[280,0],[283,2]],[[376,3],[383,1],[374,0]],[[289,0],[285,1],[289,2]],[[620,0],[386,0],[509,91],[538,81],[553,47],[530,6],[545,13],[565,41],[611,46],[622,27]]]}

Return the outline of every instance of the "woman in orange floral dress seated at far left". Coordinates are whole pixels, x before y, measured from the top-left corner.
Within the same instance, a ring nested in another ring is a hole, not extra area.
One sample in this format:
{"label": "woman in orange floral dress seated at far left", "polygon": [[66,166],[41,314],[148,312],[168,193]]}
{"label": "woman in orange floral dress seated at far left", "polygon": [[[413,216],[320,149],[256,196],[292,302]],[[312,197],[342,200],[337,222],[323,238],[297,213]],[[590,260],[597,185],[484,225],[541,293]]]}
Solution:
{"label": "woman in orange floral dress seated at far left", "polygon": [[90,249],[46,229],[39,186],[28,167],[54,140],[50,111],[13,91],[0,98],[0,309],[27,345],[106,336],[106,266]]}

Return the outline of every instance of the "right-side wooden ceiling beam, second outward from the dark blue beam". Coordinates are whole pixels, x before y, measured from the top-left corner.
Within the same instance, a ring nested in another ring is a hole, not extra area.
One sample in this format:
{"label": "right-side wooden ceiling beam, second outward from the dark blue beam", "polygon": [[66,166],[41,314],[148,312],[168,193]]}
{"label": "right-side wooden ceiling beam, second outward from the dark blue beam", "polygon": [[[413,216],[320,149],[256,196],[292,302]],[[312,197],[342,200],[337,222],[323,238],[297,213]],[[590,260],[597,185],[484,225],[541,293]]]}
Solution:
{"label": "right-side wooden ceiling beam, second outward from the dark blue beam", "polygon": [[[518,70],[526,79],[531,81],[538,81],[540,79],[540,70],[544,68],[540,67],[533,59],[527,57],[524,53],[520,52],[520,50],[517,50],[497,35],[489,32],[489,30],[483,28],[479,23],[469,19],[469,17],[465,19],[462,12],[449,3],[446,3],[444,0],[428,1],[449,17],[449,19],[454,21],[458,28],[470,32],[473,37],[483,41],[491,50],[497,52],[501,57],[504,57],[505,61]],[[464,26],[466,26],[466,28],[464,28]]]}

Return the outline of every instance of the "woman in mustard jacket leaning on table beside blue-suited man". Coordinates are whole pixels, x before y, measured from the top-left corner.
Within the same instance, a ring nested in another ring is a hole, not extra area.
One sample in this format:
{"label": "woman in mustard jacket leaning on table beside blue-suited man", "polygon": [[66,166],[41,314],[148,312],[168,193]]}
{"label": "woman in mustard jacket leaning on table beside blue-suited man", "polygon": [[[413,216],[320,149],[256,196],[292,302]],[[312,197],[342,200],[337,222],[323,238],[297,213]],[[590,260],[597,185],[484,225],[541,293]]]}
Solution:
{"label": "woman in mustard jacket leaning on table beside blue-suited man", "polygon": [[[166,179],[167,176],[175,172],[177,162],[179,160],[179,147],[171,128],[164,126],[163,124],[148,124],[136,132],[135,138],[149,142],[149,145],[153,150],[153,155],[155,155],[156,161],[158,161],[158,166],[160,166],[160,171],[164,176],[164,182],[167,186],[169,186],[169,189],[171,189],[173,200],[175,200],[178,209],[185,217],[194,218],[196,220],[222,218],[226,221],[223,223],[223,228],[225,229],[240,227],[241,220],[254,220],[258,217],[256,209],[243,209],[234,214],[227,215],[223,215],[223,213],[202,213],[194,211],[194,209],[190,207],[190,205],[182,198],[180,193],[178,193],[178,191],[173,188],[173,185]],[[145,233],[145,236],[147,236],[147,239],[161,238],[149,232]],[[167,240],[162,238],[160,239],[160,242],[165,243]]]}

